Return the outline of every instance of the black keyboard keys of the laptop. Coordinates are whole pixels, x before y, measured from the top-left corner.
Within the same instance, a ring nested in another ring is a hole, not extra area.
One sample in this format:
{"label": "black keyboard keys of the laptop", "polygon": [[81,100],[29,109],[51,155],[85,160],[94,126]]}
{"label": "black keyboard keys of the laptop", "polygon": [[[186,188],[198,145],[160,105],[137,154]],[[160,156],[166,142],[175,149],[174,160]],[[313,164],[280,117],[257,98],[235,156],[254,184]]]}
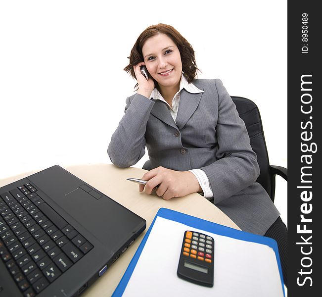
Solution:
{"label": "black keyboard keys of the laptop", "polygon": [[92,247],[30,183],[0,195],[0,256],[24,296],[36,296]]}

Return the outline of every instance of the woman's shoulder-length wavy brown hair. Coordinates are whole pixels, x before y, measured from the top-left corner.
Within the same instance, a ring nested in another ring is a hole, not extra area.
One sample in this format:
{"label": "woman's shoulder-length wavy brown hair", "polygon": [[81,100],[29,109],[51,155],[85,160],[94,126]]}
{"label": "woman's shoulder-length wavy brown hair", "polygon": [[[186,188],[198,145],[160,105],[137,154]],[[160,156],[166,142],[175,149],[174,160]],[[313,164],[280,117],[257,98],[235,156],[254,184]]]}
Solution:
{"label": "woman's shoulder-length wavy brown hair", "polygon": [[[186,41],[186,39],[174,27],[166,24],[152,25],[146,28],[140,34],[133,49],[131,50],[130,56],[128,57],[130,59],[130,63],[123,70],[125,70],[127,73],[130,73],[131,76],[136,79],[133,66],[137,65],[139,62],[144,61],[142,55],[142,48],[144,43],[147,39],[160,33],[170,37],[176,44],[181,55],[182,71],[188,83],[191,83],[197,75],[197,70],[199,70],[194,58],[194,50],[192,46]],[[154,83],[156,84],[157,82],[154,80]],[[138,84],[136,85],[136,87],[137,86]]]}

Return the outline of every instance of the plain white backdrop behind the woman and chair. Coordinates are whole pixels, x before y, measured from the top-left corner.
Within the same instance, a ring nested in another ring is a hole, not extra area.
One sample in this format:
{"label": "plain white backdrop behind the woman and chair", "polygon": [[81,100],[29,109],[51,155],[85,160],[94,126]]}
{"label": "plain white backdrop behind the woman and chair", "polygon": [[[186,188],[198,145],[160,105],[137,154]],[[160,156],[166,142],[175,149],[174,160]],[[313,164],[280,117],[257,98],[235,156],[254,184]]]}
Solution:
{"label": "plain white backdrop behind the woman and chair", "polygon": [[[220,78],[231,96],[256,102],[270,162],[287,167],[286,8],[286,0],[0,1],[0,179],[110,163],[106,149],[135,85],[122,69],[156,23],[193,46],[199,78]],[[287,224],[281,178],[276,206]]]}

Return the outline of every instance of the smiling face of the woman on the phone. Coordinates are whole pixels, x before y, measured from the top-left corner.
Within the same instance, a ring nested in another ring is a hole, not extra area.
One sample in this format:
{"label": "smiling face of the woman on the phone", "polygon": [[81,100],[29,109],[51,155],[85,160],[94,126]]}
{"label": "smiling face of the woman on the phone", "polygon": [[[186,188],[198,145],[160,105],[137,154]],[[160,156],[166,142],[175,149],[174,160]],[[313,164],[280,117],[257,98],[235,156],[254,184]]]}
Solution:
{"label": "smiling face of the woman on the phone", "polygon": [[142,54],[147,71],[161,88],[180,84],[180,51],[170,37],[157,34],[147,39],[142,47]]}

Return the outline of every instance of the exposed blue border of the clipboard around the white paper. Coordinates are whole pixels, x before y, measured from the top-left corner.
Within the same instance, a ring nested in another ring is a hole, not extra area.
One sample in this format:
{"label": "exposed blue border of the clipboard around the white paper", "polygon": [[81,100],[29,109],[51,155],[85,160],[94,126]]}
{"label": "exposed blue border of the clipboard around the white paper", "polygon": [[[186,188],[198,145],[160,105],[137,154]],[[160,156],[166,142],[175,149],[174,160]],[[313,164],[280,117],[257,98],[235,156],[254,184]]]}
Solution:
{"label": "exposed blue border of the clipboard around the white paper", "polygon": [[280,265],[279,254],[278,254],[278,247],[277,247],[277,243],[274,239],[260,236],[260,235],[256,235],[256,234],[252,234],[252,233],[248,233],[248,232],[244,232],[244,231],[240,231],[240,230],[236,230],[236,229],[233,229],[230,227],[226,227],[226,226],[219,225],[219,224],[216,224],[213,222],[209,222],[209,221],[206,221],[203,219],[199,219],[197,217],[190,216],[190,215],[187,215],[187,214],[175,211],[175,210],[171,210],[171,209],[167,209],[167,208],[160,208],[159,211],[157,212],[157,214],[155,215],[150,228],[148,229],[143,240],[141,241],[140,245],[138,246],[138,250],[136,251],[135,255],[133,256],[127,270],[125,271],[120,283],[116,287],[112,297],[119,297],[119,296],[123,295],[123,292],[125,291],[126,286],[128,285],[128,282],[132,276],[132,273],[137,265],[137,262],[138,262],[140,255],[141,255],[143,247],[144,247],[146,241],[148,240],[148,237],[149,237],[149,234],[153,228],[154,222],[158,216],[168,219],[168,220],[175,221],[175,222],[183,223],[183,224],[190,226],[192,228],[201,229],[206,232],[215,233],[218,235],[227,236],[227,237],[238,239],[238,240],[259,243],[259,244],[267,245],[267,246],[273,248],[275,255],[276,255],[276,261],[277,261],[277,266],[278,266],[278,270],[279,270],[280,281],[282,284],[283,295],[285,296],[284,286],[283,286],[282,269],[281,269],[281,265]]}

